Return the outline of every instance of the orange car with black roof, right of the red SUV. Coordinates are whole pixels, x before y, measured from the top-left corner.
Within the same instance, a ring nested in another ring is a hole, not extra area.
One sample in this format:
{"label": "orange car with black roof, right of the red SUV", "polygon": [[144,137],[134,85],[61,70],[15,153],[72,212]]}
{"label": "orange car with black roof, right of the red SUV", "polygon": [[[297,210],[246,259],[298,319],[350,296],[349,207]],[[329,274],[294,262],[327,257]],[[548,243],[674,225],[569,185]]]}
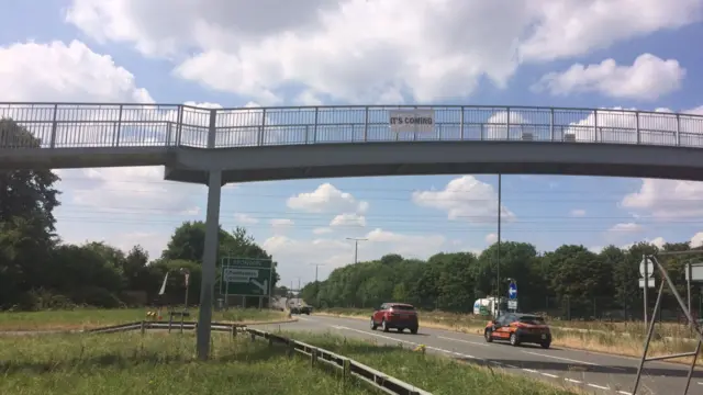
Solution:
{"label": "orange car with black roof, right of the red SUV", "polygon": [[505,313],[490,320],[483,330],[486,341],[509,340],[513,346],[537,343],[548,349],[551,331],[545,319],[534,314]]}

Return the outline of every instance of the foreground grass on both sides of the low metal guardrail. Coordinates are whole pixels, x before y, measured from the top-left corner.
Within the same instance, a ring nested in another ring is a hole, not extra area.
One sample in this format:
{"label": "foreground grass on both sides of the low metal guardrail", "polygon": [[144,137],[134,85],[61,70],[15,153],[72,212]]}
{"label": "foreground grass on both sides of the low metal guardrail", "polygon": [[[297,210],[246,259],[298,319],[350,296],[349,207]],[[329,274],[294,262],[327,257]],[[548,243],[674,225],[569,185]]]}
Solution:
{"label": "foreground grass on both sides of the low metal guardrail", "polygon": [[[570,395],[522,376],[447,358],[332,335],[284,334],[342,353],[434,394],[491,392]],[[1,394],[372,394],[364,383],[311,369],[303,356],[246,336],[213,334],[209,362],[194,358],[194,335],[136,332],[0,339]]]}

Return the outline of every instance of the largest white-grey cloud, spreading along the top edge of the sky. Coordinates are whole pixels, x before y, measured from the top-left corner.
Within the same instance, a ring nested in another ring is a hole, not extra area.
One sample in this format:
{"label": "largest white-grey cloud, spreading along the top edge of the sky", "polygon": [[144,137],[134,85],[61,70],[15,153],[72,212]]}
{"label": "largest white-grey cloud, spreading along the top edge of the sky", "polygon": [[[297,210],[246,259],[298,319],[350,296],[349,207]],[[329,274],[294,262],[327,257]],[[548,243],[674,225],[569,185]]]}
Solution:
{"label": "largest white-grey cloud, spreading along the top edge of the sky", "polygon": [[482,78],[504,87],[521,61],[677,29],[700,20],[701,10],[698,0],[266,3],[74,0],[67,21],[102,42],[186,57],[177,76],[264,103],[280,102],[290,87],[302,87],[292,94],[308,102],[378,102],[400,92],[426,102],[468,95]]}

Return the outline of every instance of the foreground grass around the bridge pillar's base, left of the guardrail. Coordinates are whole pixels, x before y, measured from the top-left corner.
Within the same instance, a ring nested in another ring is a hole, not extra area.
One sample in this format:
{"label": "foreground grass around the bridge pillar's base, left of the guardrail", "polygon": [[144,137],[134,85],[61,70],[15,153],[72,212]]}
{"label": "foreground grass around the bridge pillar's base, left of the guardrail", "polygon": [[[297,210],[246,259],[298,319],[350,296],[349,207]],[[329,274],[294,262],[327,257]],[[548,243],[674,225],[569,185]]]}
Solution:
{"label": "foreground grass around the bridge pillar's base, left of the guardrail", "polygon": [[372,394],[245,336],[213,336],[208,362],[194,343],[164,332],[0,339],[0,394]]}

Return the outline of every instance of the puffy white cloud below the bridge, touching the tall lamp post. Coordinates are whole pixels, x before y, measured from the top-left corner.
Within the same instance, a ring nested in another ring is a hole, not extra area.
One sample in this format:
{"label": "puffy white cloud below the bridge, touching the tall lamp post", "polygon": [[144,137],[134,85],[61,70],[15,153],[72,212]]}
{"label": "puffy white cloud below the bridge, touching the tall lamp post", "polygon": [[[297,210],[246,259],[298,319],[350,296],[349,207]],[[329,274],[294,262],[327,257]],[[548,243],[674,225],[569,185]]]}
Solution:
{"label": "puffy white cloud below the bridge, touching the tall lamp post", "polygon": [[[498,217],[498,194],[493,187],[472,176],[454,179],[442,191],[413,192],[412,201],[420,206],[445,211],[451,221],[490,223]],[[515,214],[503,205],[501,219],[514,221]]]}

